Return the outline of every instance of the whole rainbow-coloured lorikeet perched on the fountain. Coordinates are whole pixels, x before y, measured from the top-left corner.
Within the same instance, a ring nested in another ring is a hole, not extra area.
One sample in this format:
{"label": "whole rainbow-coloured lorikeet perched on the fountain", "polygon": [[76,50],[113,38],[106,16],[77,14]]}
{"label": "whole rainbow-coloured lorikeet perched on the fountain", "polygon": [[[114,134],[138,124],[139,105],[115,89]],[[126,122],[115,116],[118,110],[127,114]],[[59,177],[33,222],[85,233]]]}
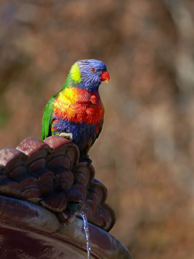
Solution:
{"label": "whole rainbow-coloured lorikeet perched on the fountain", "polygon": [[99,137],[104,107],[99,85],[109,81],[105,64],[98,60],[79,60],[71,67],[65,85],[49,100],[42,121],[42,140],[61,135],[74,141],[80,155],[88,158],[89,149]]}

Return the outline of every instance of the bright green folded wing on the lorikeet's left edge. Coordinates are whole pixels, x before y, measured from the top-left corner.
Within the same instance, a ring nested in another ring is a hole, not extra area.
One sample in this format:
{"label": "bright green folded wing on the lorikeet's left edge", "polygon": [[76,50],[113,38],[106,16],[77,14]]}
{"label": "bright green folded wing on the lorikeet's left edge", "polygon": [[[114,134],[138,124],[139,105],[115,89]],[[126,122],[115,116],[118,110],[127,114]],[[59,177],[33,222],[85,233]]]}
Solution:
{"label": "bright green folded wing on the lorikeet's left edge", "polygon": [[54,108],[54,101],[59,93],[53,95],[49,100],[48,104],[45,107],[43,119],[42,119],[42,140],[51,136],[51,121],[52,121],[52,113]]}

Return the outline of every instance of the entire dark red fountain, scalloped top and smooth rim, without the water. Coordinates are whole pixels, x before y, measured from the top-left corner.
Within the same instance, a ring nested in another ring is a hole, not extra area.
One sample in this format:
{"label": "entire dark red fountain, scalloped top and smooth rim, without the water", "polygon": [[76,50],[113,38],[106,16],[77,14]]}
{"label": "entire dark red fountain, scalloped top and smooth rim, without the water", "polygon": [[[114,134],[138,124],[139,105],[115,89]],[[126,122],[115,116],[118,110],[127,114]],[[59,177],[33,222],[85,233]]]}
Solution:
{"label": "entire dark red fountain, scalloped top and smooth rim, without the water", "polygon": [[132,258],[107,233],[115,213],[105,186],[78,159],[77,146],[60,136],[0,151],[0,259],[87,258],[83,220],[67,209],[74,202],[90,222],[92,258]]}

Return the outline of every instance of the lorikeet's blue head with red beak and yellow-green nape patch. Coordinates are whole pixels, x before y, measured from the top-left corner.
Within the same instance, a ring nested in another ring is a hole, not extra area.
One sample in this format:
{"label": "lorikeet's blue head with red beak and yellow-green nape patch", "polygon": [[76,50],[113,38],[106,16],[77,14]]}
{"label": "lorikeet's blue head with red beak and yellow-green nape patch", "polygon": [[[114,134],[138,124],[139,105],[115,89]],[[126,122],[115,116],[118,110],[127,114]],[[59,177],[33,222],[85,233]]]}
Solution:
{"label": "lorikeet's blue head with red beak and yellow-green nape patch", "polygon": [[109,82],[109,72],[102,61],[78,60],[70,70],[73,85],[87,91],[96,91],[102,81]]}

